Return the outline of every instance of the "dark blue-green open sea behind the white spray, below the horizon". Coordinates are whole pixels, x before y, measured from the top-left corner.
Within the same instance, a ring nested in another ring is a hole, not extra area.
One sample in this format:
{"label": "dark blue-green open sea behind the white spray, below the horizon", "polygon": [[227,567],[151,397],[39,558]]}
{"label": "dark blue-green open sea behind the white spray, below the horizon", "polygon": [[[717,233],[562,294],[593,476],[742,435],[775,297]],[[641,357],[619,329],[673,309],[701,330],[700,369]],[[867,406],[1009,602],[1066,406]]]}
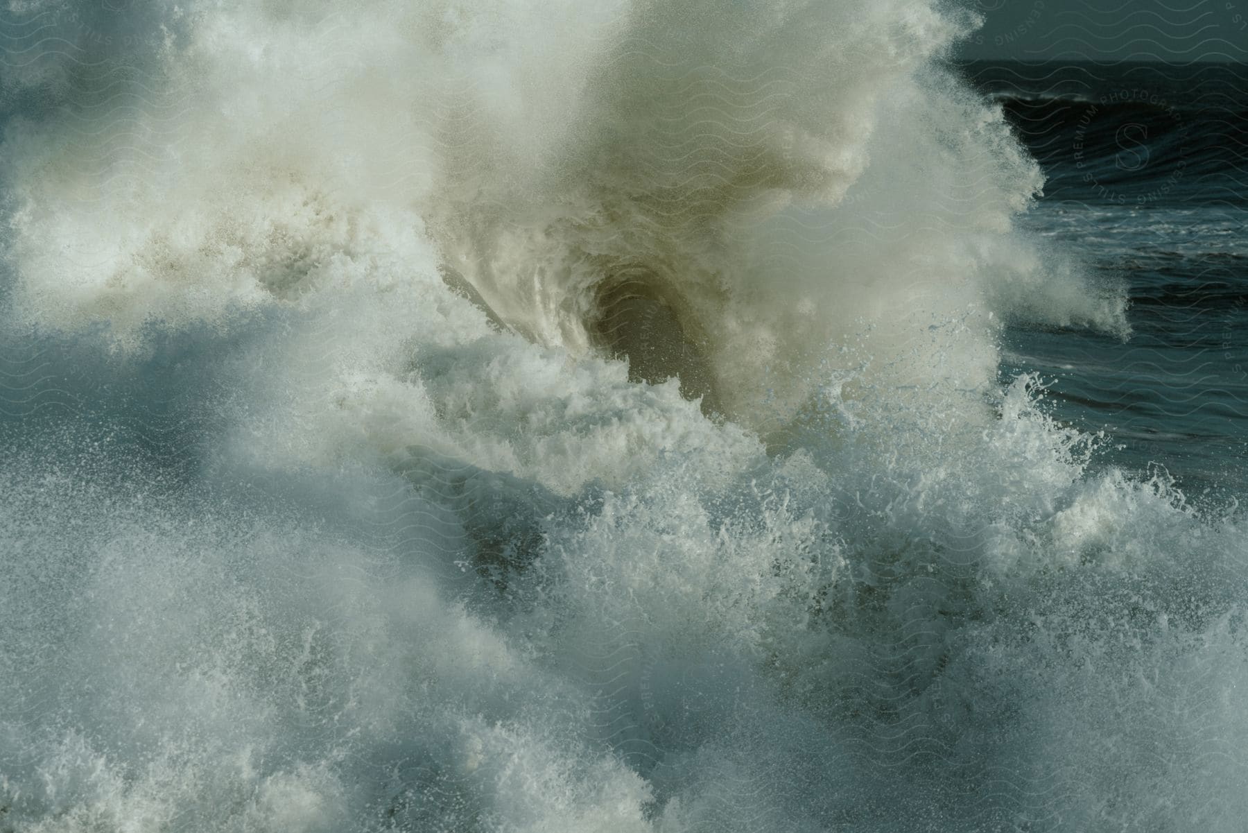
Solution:
{"label": "dark blue-green open sea behind the white spray, below the horizon", "polygon": [[1047,182],[1025,225],[1124,282],[1131,336],[1015,328],[1002,372],[1038,371],[1106,460],[1192,497],[1248,482],[1248,67],[987,64]]}

